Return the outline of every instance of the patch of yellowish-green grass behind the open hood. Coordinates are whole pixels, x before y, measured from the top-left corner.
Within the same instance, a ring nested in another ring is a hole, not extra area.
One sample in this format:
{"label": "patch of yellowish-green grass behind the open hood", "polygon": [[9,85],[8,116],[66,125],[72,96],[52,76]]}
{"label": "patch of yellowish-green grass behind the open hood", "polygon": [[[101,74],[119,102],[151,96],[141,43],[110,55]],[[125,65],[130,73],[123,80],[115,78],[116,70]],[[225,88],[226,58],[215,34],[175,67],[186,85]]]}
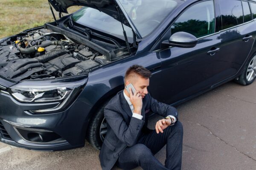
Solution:
{"label": "patch of yellowish-green grass behind the open hood", "polygon": [[[0,38],[54,21],[48,0],[0,0],[0,4]],[[68,12],[79,8],[70,7]],[[57,12],[55,16],[58,18]]]}

